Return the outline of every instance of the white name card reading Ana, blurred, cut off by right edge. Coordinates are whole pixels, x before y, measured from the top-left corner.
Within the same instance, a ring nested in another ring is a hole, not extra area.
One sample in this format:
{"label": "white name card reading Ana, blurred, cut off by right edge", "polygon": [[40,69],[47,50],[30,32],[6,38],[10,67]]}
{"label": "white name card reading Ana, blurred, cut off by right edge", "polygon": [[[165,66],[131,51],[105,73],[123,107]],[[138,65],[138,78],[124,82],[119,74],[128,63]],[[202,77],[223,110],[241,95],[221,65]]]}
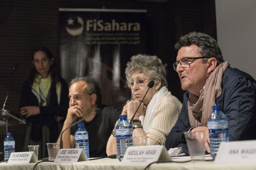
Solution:
{"label": "white name card reading Ana, blurred, cut off by right edge", "polygon": [[256,140],[221,142],[214,163],[255,163]]}

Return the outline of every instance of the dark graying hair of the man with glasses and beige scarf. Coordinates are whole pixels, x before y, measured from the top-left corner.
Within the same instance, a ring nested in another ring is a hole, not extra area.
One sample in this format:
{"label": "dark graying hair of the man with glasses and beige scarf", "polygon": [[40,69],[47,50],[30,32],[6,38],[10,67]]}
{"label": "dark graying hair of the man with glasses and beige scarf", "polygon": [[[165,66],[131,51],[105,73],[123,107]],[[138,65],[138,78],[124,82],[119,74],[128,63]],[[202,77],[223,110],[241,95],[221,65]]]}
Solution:
{"label": "dark graying hair of the man with glasses and beige scarf", "polygon": [[[201,32],[190,32],[187,35],[180,37],[180,39],[175,44],[175,49],[179,50],[181,49],[181,47],[190,45],[196,45],[197,47],[199,47],[198,52],[203,57],[216,58],[217,65],[224,62],[219,45],[217,41],[211,36]],[[207,58],[202,59],[202,62],[205,63],[207,60]]]}

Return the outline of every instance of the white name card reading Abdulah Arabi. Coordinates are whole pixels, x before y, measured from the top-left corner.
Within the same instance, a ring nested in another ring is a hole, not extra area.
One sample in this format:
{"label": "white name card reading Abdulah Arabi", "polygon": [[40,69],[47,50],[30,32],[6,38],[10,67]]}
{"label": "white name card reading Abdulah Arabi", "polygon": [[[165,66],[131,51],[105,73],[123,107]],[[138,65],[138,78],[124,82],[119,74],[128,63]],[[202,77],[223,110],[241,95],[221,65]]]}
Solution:
{"label": "white name card reading Abdulah Arabi", "polygon": [[165,146],[131,146],[127,148],[122,163],[151,163],[158,160],[172,160]]}

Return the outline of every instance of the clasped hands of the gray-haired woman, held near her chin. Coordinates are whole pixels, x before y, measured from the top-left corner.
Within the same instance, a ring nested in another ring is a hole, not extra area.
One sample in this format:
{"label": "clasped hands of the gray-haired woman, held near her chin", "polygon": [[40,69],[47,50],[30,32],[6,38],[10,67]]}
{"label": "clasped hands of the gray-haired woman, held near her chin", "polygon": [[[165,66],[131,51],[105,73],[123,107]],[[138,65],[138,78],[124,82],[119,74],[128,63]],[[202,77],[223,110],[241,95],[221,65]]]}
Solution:
{"label": "clasped hands of the gray-haired woman, held near her chin", "polygon": [[[131,119],[137,107],[139,106],[140,101],[134,100],[127,103],[127,119]],[[134,119],[139,119],[139,117],[146,113],[143,102],[141,103]]]}

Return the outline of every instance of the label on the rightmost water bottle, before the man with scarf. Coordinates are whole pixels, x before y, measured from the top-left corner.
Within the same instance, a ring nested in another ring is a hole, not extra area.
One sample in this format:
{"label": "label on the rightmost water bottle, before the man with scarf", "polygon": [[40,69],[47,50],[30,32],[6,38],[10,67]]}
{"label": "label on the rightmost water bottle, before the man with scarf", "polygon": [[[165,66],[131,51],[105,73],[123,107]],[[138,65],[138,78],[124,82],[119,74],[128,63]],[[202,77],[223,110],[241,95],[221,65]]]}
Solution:
{"label": "label on the rightmost water bottle, before the man with scarf", "polygon": [[208,121],[210,134],[228,133],[227,119]]}

